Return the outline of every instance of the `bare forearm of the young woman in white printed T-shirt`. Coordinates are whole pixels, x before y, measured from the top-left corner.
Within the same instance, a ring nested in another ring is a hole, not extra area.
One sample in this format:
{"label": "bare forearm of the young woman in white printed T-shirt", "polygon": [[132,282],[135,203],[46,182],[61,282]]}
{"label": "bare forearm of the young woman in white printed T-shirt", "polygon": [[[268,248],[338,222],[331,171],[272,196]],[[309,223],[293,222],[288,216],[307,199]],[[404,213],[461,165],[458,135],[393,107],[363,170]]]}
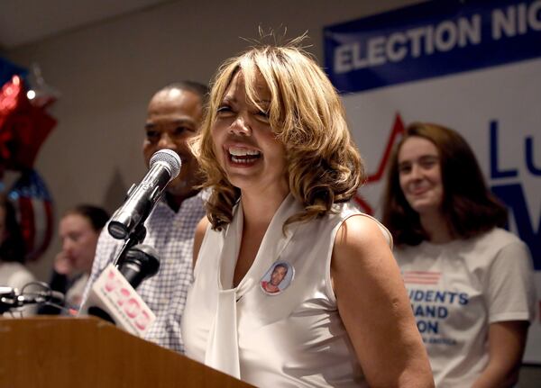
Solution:
{"label": "bare forearm of the young woman in white printed T-shirt", "polygon": [[489,326],[489,364],[472,388],[511,387],[518,382],[518,370],[526,346],[526,320],[491,323]]}

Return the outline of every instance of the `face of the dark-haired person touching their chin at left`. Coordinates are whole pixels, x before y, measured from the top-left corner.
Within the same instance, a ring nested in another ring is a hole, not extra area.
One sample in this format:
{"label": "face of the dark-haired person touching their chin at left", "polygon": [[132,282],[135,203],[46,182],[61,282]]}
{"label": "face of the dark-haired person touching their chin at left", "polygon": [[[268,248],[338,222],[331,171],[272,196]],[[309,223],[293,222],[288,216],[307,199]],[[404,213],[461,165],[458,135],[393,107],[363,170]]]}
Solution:
{"label": "face of the dark-haired person touching their chin at left", "polygon": [[99,232],[80,214],[68,214],[60,220],[62,251],[76,271],[89,273],[96,253]]}

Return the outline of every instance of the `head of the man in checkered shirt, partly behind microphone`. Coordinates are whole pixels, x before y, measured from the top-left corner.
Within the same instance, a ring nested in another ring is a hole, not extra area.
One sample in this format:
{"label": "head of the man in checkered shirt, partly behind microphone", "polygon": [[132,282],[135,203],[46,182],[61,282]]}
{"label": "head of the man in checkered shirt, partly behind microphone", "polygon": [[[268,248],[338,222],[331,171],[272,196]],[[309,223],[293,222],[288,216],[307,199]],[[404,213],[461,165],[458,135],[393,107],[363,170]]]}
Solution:
{"label": "head of the man in checkered shirt, partly behind microphone", "polygon": [[188,90],[158,92],[149,104],[142,153],[147,166],[160,149],[171,149],[179,154],[180,174],[167,186],[168,193],[174,196],[186,197],[198,184],[197,160],[188,149],[187,140],[199,131],[202,115],[199,96]]}

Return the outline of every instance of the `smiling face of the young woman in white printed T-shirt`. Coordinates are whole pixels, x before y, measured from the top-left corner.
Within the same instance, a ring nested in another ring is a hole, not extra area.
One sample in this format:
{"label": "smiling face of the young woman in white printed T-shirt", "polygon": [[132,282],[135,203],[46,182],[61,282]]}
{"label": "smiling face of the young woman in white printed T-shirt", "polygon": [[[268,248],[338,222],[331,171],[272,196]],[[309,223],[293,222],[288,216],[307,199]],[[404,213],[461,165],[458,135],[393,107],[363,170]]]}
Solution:
{"label": "smiling face of the young woman in white printed T-shirt", "polygon": [[430,140],[413,136],[399,149],[399,183],[420,215],[440,212],[444,198],[439,153]]}

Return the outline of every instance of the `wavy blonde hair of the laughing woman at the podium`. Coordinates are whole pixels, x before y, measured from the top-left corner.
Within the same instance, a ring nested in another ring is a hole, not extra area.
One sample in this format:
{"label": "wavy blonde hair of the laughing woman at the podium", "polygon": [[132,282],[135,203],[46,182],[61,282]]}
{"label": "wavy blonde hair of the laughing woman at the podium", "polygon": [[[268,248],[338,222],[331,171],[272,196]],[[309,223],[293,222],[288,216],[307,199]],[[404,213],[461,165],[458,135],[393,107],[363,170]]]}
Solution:
{"label": "wavy blonde hair of the laughing woman at the podium", "polygon": [[344,106],[326,74],[296,41],[284,46],[253,47],[219,68],[210,92],[205,122],[191,148],[212,189],[206,212],[212,228],[233,219],[240,190],[227,180],[214,149],[216,112],[235,75],[242,73],[248,101],[257,104],[257,80],[271,92],[271,129],[286,149],[289,191],[304,211],[286,221],[309,221],[332,212],[334,203],[349,201],[364,179],[362,159],[353,144]]}

